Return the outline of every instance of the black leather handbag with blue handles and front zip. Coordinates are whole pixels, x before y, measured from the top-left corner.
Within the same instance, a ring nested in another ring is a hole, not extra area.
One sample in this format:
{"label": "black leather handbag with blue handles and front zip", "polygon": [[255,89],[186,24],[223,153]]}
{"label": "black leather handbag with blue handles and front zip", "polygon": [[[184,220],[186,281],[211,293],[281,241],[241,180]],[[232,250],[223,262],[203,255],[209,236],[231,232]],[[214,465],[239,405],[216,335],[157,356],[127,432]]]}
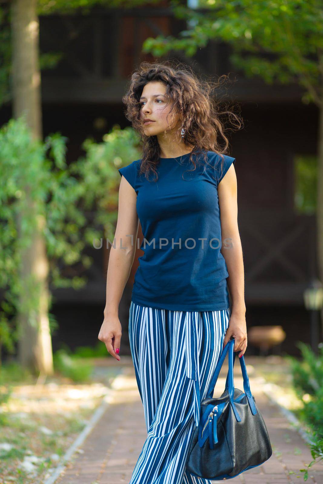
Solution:
{"label": "black leather handbag with blue handles and front zip", "polygon": [[[244,356],[239,358],[244,390],[234,388],[233,365],[237,352],[228,341],[216,364],[207,397],[200,404],[200,424],[193,433],[186,470],[204,479],[231,479],[260,466],[272,455],[267,427],[251,394]],[[220,369],[229,354],[225,390],[212,398]]]}

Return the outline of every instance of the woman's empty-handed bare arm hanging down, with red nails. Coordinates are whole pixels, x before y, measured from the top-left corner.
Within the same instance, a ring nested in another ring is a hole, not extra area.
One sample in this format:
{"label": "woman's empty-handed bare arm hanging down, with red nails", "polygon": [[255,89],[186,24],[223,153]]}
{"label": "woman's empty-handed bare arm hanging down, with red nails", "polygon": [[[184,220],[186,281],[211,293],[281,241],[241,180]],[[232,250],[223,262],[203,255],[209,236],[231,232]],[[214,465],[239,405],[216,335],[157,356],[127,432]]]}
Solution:
{"label": "woman's empty-handed bare arm hanging down, with red nails", "polygon": [[98,339],[106,344],[108,352],[120,360],[116,352],[120,348],[122,326],[119,320],[119,303],[129,278],[136,252],[139,219],[136,210],[137,194],[130,183],[122,177],[119,188],[118,220],[115,232],[115,248],[110,249],[107,273],[107,296]]}

